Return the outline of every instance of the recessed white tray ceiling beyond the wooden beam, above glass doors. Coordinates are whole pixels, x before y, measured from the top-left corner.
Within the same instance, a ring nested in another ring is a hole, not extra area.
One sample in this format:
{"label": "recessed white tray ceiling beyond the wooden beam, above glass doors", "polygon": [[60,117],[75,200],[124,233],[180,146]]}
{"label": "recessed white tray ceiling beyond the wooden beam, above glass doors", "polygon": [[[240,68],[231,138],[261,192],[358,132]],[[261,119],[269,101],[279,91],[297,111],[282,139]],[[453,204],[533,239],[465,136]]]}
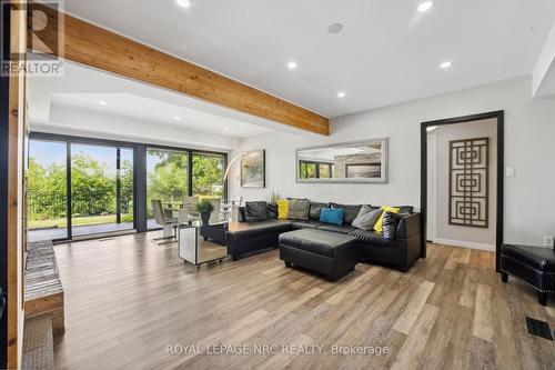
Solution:
{"label": "recessed white tray ceiling beyond the wooden beam, above glass doors", "polygon": [[[63,78],[28,79],[28,83],[31,129],[64,123],[62,113],[79,110],[83,116],[90,112],[113,121],[134,119],[236,139],[270,130],[269,122],[256,118],[71,62],[65,63]],[[78,121],[72,126],[94,129],[80,127]]]}

